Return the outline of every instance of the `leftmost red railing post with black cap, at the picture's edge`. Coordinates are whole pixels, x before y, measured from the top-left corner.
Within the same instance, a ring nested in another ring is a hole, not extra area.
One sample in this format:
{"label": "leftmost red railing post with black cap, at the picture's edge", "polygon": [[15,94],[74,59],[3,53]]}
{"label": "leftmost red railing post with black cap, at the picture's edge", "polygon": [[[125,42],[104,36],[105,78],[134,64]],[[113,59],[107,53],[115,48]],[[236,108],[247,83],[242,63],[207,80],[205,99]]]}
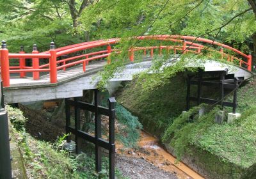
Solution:
{"label": "leftmost red railing post with black cap, at the picture's edge", "polygon": [[6,47],[6,42],[2,41],[2,46],[0,50],[1,58],[1,77],[3,80],[3,87],[10,86],[10,66],[9,66],[9,51]]}

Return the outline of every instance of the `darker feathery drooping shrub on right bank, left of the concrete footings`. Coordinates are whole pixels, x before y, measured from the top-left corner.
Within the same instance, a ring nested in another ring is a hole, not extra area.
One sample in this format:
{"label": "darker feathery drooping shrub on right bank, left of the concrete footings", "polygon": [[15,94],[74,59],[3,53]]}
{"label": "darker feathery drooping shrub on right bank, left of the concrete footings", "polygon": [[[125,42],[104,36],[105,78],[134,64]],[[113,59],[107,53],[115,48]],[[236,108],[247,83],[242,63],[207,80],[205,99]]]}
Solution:
{"label": "darker feathery drooping shrub on right bank, left of the concrete footings", "polygon": [[[205,131],[214,123],[214,116],[218,108],[212,110],[206,115],[199,116],[199,110],[206,106],[200,105],[191,108],[188,112],[180,114],[178,118],[164,131],[163,142],[169,143],[173,147],[178,159],[189,152],[191,140],[196,136],[204,134]],[[207,111],[207,110],[206,110]],[[191,119],[193,116],[193,119]]]}

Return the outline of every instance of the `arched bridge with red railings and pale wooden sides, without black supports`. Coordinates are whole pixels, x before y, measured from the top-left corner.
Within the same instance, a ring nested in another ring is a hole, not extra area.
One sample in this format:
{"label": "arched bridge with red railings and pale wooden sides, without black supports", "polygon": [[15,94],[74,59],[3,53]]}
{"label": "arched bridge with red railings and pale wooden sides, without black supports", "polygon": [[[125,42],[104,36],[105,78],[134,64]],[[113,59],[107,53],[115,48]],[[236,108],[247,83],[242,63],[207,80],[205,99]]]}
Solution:
{"label": "arched bridge with red railings and pale wooden sides, without black supports", "polygon": [[[138,42],[151,40],[157,45],[137,45],[127,50],[129,63],[123,72],[116,74],[110,81],[131,80],[133,74],[150,67],[150,60],[154,56],[161,57],[164,52],[173,55],[188,52],[194,54],[201,54],[205,51],[215,52],[220,59],[234,64],[235,70],[230,70],[230,73],[245,79],[251,75],[252,56],[223,43],[180,35],[139,36],[135,39]],[[6,42],[3,41],[0,58],[6,102],[29,102],[82,96],[83,89],[97,88],[100,78],[96,77],[93,80],[93,74],[111,63],[111,54],[120,53],[120,50],[116,48],[116,44],[119,42],[119,38],[112,38],[68,45],[58,49],[55,49],[52,42],[51,49],[46,52],[38,52],[34,45],[31,53],[24,52],[23,47],[20,48],[19,53],[10,53]],[[152,44],[152,42],[146,44]],[[207,44],[212,47],[207,47]],[[134,63],[137,58],[141,59],[141,56],[143,61]],[[31,60],[30,65],[27,63],[29,59]],[[230,66],[221,66],[220,64],[223,64],[221,60],[220,63],[209,61],[205,64],[205,70],[220,70]],[[214,66],[215,69],[212,69]]]}

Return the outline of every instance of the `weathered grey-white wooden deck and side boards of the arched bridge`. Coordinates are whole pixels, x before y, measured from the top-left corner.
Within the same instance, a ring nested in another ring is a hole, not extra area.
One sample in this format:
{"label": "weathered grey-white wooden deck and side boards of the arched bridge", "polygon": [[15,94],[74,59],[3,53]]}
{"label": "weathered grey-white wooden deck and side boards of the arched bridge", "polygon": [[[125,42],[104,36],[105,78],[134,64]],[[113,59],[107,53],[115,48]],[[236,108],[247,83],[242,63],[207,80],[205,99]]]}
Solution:
{"label": "weathered grey-white wooden deck and side boards of the arched bridge", "polygon": [[[58,98],[82,97],[83,90],[96,89],[100,81],[100,76],[97,72],[102,70],[106,65],[106,61],[98,61],[86,66],[86,72],[83,72],[83,66],[78,65],[67,69],[66,72],[58,72],[58,83],[49,83],[49,75],[44,75],[38,81],[33,79],[20,79],[13,77],[11,86],[4,88],[4,100],[8,104],[20,102],[33,102],[38,100],[52,100]],[[134,74],[138,74],[150,68],[152,61],[145,59],[140,63],[132,63],[125,66],[125,69],[115,74],[115,77],[109,80],[108,87],[111,91],[113,86],[116,86],[120,81],[131,81]],[[235,77],[248,79],[252,73],[239,68],[223,64],[218,61],[205,61],[198,65],[204,68],[205,71],[222,71],[228,69],[228,74],[235,74]],[[192,63],[188,63],[188,67],[195,67]]]}

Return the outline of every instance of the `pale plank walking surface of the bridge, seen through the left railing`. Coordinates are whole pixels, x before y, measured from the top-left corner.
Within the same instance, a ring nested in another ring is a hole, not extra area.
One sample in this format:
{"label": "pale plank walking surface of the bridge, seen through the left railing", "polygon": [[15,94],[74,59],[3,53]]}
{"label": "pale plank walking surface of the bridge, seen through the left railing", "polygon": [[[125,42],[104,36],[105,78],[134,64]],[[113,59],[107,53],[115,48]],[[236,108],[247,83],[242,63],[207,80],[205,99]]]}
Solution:
{"label": "pale plank walking surface of the bridge, seen through the left railing", "polygon": [[[97,61],[94,63],[89,63],[86,65],[86,72],[83,72],[83,65],[77,65],[72,68],[67,68],[66,71],[60,70],[57,74],[58,82],[66,81],[68,79],[72,79],[74,77],[81,77],[82,75],[89,75],[92,72],[95,72],[97,70],[100,70],[103,68],[104,65],[106,65],[106,61]],[[10,79],[10,84],[12,87],[28,87],[28,86],[40,86],[45,84],[51,84],[50,83],[50,77],[49,74],[40,76],[40,79],[33,80],[33,77],[25,77],[20,78],[18,76],[13,76]]]}

